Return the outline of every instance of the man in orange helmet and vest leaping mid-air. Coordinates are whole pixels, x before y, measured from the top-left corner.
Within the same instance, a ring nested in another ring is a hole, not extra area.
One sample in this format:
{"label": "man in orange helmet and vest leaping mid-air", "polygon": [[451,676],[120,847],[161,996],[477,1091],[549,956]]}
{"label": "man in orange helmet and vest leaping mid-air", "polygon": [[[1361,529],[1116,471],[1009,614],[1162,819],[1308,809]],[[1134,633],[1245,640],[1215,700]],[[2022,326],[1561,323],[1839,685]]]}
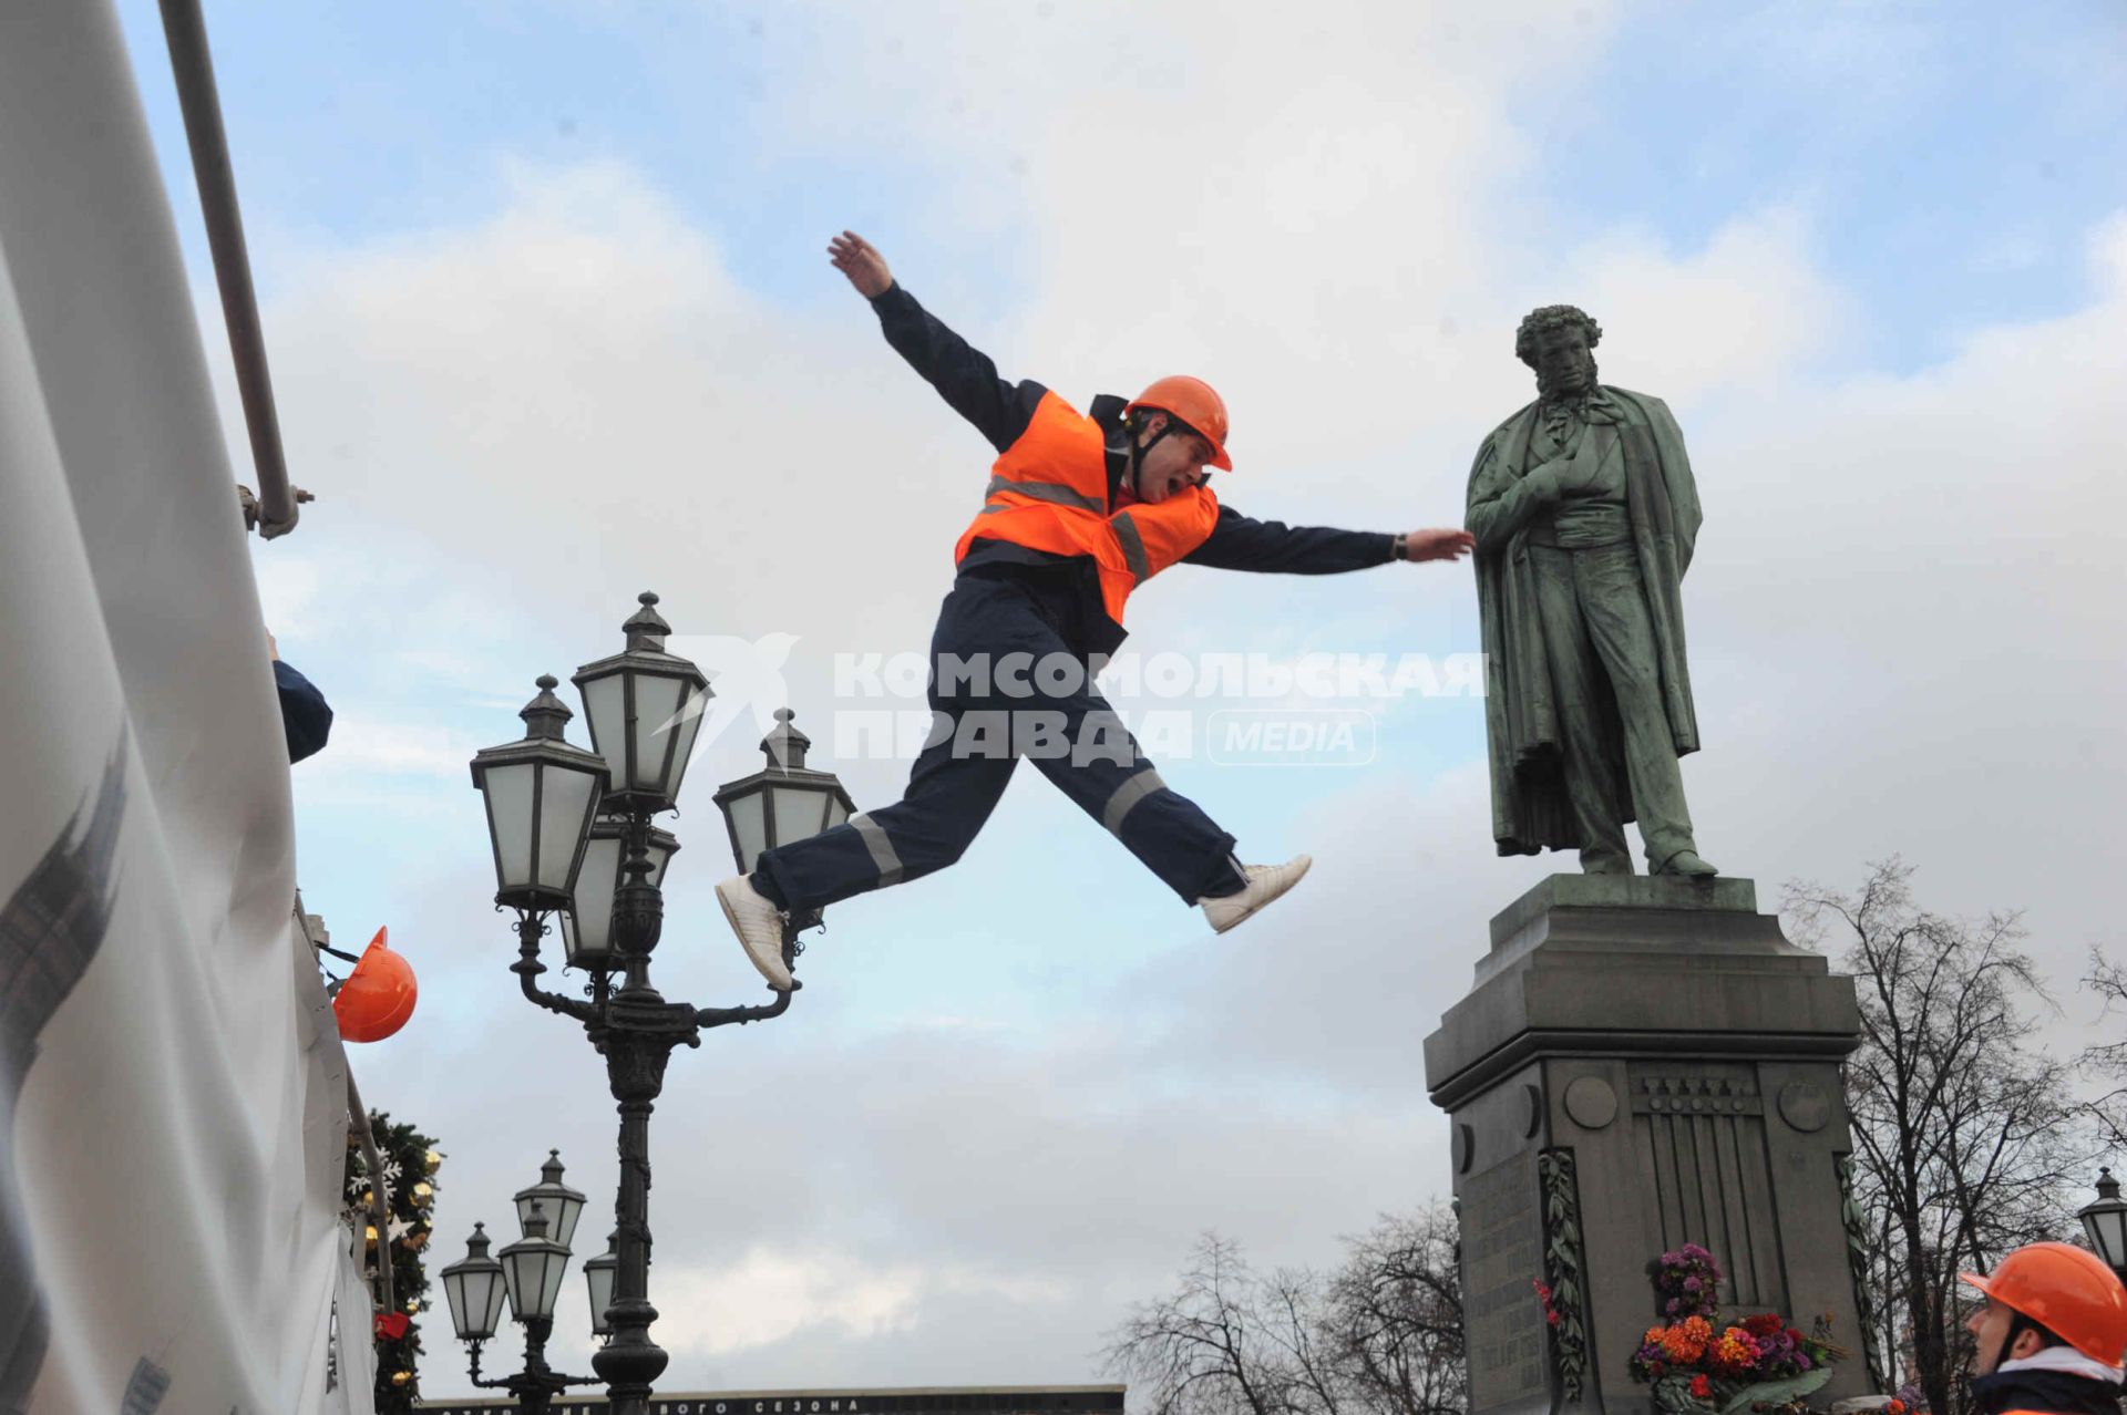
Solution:
{"label": "man in orange helmet and vest leaping mid-air", "polygon": [[[974,841],[1019,756],[1055,782],[1185,903],[1225,933],[1293,888],[1312,860],[1240,865],[1234,837],[1168,788],[1093,686],[1123,642],[1129,593],[1176,561],[1302,576],[1389,561],[1455,561],[1466,531],[1334,531],[1251,521],[1206,484],[1232,472],[1225,404],[1200,378],[1078,412],[998,368],[932,317],[853,232],[834,268],[878,312],[887,342],[998,450],[959,576],[932,633],[934,729],[895,805],[761,852],[717,886],[770,988],[791,986],[783,914],[944,869]],[[1017,665],[1017,667],[1015,667]],[[1032,665],[1032,667],[1029,667]]]}

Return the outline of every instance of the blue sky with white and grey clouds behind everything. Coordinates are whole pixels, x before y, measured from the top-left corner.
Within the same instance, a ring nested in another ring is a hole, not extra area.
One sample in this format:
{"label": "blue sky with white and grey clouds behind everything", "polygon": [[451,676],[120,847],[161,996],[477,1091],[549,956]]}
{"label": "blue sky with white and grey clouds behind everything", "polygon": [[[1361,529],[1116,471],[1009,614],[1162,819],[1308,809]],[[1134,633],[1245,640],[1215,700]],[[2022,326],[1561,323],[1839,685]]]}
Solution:
{"label": "blue sky with white and grey clouds behind everything", "polygon": [[[225,374],[155,6],[119,8]],[[421,973],[415,1022],[355,1064],[442,1139],[440,1258],[549,1147],[598,1203],[615,1181],[593,1054],[504,971],[466,775],[532,678],[617,650],[655,589],[704,665],[787,652],[815,765],[859,805],[906,773],[849,729],[908,703],[838,697],[836,661],[927,642],[989,453],[827,268],[842,227],[1006,376],[1081,404],[1210,378],[1221,495],[1317,525],[1459,523],[1478,440],[1529,395],[1514,321],[1587,306],[1604,378],[1670,402],[1706,501],[1704,854],[1770,907],[1899,852],[1931,907],[2027,909],[2059,1035],[2093,1022],[2074,979],[2118,939],[2127,867],[2121,11],[1246,15],[208,6],[319,495],[253,548],[338,712],[296,769],[302,886],[338,943],[389,924]],[[1132,629],[1193,661],[1448,665],[1478,640],[1468,567],[1438,565],[1183,567]],[[1023,771],[961,867],[832,911],[787,1018],[674,1058],[668,1387],[1098,1379],[1102,1332],[1200,1230],[1329,1262],[1444,1192],[1421,1041],[1485,920],[1570,863],[1493,856],[1476,699],[1344,703],[1372,758],[1280,769],[1212,761],[1219,701],[1129,708],[1187,714],[1163,775],[1249,858],[1314,854],[1276,911],[1215,941]],[[764,996],[710,899],[708,797],[757,737],[742,712],[696,758],[670,996]],[[583,1368],[574,1277],[557,1328]],[[464,1390],[440,1309],[428,1347],[428,1392]]]}

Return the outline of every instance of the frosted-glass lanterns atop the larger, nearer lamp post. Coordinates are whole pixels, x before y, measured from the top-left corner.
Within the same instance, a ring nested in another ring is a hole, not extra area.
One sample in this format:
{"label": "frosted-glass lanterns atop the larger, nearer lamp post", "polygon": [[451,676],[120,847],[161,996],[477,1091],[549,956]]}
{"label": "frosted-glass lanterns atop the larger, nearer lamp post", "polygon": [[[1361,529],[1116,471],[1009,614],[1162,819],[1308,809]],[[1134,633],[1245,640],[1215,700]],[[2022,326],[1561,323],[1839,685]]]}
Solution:
{"label": "frosted-glass lanterns atop the larger, nearer lamp post", "polygon": [[[642,608],[621,625],[627,648],[570,678],[583,695],[589,752],[564,739],[574,714],[553,695],[559,682],[542,676],[519,714],[525,735],[472,758],[472,784],[487,801],[496,903],[557,911],[566,967],[593,973],[619,967],[610,922],[627,818],[676,805],[710,697],[702,669],[664,650],[672,627],[657,614],[657,595],[636,599]],[[761,741],[768,767],[717,790],[740,873],[764,850],[838,826],[855,809],[832,771],[806,769],[808,746],[789,708],[778,708]],[[670,833],[649,833],[649,884],[661,886],[676,850]]]}

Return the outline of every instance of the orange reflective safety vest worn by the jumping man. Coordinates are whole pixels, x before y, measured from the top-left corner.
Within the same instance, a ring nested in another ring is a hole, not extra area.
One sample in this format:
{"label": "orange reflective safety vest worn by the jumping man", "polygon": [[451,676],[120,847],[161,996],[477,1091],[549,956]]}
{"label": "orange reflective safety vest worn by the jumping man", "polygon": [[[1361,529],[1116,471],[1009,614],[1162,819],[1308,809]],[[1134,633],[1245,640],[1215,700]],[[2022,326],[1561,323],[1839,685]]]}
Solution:
{"label": "orange reflective safety vest worn by the jumping man", "polygon": [[1215,525],[1219,497],[1208,487],[1110,512],[1100,423],[1042,393],[1027,429],[991,463],[983,510],[953,546],[953,563],[968,559],[976,540],[1091,557],[1102,608],[1121,625],[1129,591],[1202,546]]}

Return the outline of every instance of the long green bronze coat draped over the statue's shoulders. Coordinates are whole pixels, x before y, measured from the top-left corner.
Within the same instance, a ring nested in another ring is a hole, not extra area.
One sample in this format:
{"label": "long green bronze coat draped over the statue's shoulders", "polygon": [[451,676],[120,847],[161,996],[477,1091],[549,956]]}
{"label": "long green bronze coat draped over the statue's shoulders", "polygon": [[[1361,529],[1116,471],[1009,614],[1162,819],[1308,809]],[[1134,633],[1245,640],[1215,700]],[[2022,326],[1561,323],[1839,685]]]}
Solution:
{"label": "long green bronze coat draped over the statue's shoulders", "polygon": [[[1699,493],[1685,457],[1685,433],[1668,404],[1646,393],[1604,385],[1619,421],[1589,423],[1589,450],[1597,459],[1612,442],[1625,448],[1625,508],[1631,542],[1655,625],[1661,697],[1670,714],[1676,754],[1699,750],[1691,708],[1691,671],[1685,665],[1680,586],[1699,533]],[[1527,512],[1502,510],[1502,495],[1521,480],[1536,433],[1538,404],[1506,419],[1485,438],[1470,467],[1468,529],[1478,538],[1476,603],[1485,635],[1485,729],[1491,748],[1491,833],[1500,854],[1536,854],[1580,846],[1572,805],[1559,771],[1559,703],[1536,618],[1536,580],[1527,557]],[[1517,497],[1506,497],[1517,501]],[[1625,775],[1625,737],[1612,703],[1604,712],[1604,739],[1617,782]],[[1625,803],[1625,820],[1631,820]]]}

